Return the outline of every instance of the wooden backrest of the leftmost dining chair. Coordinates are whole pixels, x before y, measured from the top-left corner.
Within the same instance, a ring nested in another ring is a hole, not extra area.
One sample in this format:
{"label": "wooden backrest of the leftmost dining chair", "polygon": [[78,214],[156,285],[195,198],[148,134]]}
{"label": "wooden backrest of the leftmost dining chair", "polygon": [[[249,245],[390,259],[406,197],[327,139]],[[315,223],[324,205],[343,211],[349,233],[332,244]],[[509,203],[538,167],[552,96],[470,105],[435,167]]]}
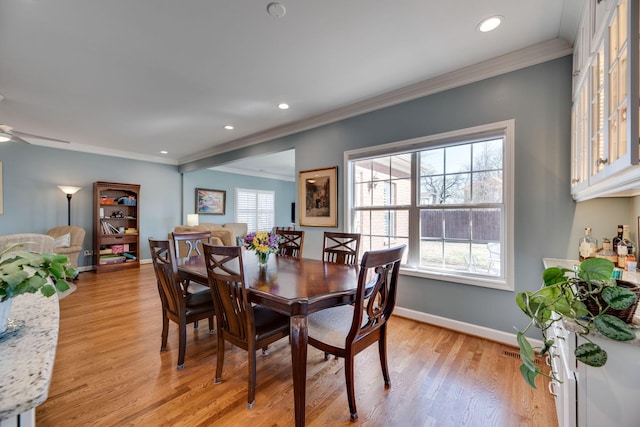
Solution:
{"label": "wooden backrest of the leftmost dining chair", "polygon": [[184,290],[178,278],[174,248],[169,240],[149,238],[153,270],[158,281],[158,292],[164,308],[175,315],[185,312]]}

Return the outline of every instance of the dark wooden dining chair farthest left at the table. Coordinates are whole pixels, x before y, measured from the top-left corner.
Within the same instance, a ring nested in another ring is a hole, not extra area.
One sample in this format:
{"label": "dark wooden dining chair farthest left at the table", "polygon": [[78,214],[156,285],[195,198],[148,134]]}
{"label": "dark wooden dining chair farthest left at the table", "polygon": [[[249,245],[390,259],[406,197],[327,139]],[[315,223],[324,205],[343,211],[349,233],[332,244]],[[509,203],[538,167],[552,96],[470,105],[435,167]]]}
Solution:
{"label": "dark wooden dining chair farthest left at the table", "polygon": [[[187,323],[209,319],[209,333],[214,334],[213,316],[215,309],[209,289],[188,293],[178,276],[174,246],[169,240],[149,238],[153,270],[156,273],[158,293],[162,303],[162,344],[160,351],[167,349],[169,320],[178,324],[178,370],[184,368],[187,346]],[[196,328],[197,330],[197,328]]]}

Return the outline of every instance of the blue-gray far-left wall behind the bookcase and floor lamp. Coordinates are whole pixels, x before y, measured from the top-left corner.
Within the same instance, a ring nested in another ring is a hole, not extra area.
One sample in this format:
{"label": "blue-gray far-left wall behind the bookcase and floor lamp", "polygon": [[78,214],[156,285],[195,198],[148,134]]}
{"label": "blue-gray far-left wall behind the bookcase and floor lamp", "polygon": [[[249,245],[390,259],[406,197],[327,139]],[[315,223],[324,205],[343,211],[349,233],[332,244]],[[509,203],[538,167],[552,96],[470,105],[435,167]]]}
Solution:
{"label": "blue-gray far-left wall behind the bookcase and floor lamp", "polygon": [[[36,145],[0,145],[4,214],[0,234],[46,233],[67,225],[67,198],[58,185],[82,187],[71,200],[71,224],[86,230],[83,249],[93,249],[93,182],[140,184],[141,259],[144,242],[166,236],[179,223],[180,174],[176,166],[57,150]],[[80,256],[79,265],[91,263]]]}

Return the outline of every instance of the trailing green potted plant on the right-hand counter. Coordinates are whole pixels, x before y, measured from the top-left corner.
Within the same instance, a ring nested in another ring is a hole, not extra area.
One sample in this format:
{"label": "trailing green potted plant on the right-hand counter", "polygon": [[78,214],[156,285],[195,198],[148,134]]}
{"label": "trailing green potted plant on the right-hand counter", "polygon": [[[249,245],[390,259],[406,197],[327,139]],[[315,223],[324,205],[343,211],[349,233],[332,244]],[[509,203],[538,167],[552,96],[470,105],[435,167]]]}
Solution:
{"label": "trailing green potted plant on the right-hand counter", "polygon": [[554,343],[549,336],[549,328],[555,322],[573,322],[577,326],[576,333],[586,341],[575,349],[576,359],[594,367],[607,363],[607,352],[589,338],[592,331],[616,341],[629,341],[636,337],[624,320],[610,314],[612,310],[626,310],[637,304],[636,293],[618,286],[618,282],[611,279],[613,270],[613,263],[603,258],[586,259],[575,272],[551,267],[545,269],[542,275],[544,284],[540,289],[518,293],[516,303],[531,319],[524,330],[517,332],[523,361],[520,373],[529,385],[535,388],[538,375],[551,377],[534,364],[536,349],[525,337],[532,327],[542,332],[543,346],[537,350],[544,355]]}

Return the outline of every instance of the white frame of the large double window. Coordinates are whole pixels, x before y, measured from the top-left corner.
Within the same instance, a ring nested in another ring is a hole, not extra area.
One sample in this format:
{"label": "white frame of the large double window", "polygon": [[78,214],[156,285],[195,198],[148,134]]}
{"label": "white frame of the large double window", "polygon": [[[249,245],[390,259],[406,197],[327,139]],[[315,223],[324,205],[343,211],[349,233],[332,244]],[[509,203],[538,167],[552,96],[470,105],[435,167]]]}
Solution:
{"label": "white frame of the large double window", "polygon": [[[418,268],[419,265],[419,235],[420,233],[411,232],[416,230],[419,225],[419,215],[410,214],[410,237],[408,247],[407,263],[403,264],[400,273],[409,276],[423,277],[428,279],[436,279],[447,282],[462,283],[466,285],[481,286],[486,288],[501,289],[507,291],[514,290],[514,147],[515,147],[515,120],[505,120],[495,123],[489,123],[480,126],[474,126],[466,129],[455,130],[451,132],[429,135],[419,138],[413,138],[404,141],[392,142],[388,144],[376,145],[357,150],[345,151],[344,153],[344,171],[346,179],[344,180],[344,218],[347,231],[352,231],[352,197],[353,197],[353,179],[352,170],[349,162],[358,159],[394,155],[406,152],[414,152],[421,149],[434,148],[438,146],[450,145],[452,143],[473,141],[478,138],[491,136],[504,137],[503,144],[503,191],[504,191],[504,220],[500,235],[502,236],[500,253],[500,263],[502,266],[502,275],[484,276],[474,275],[470,273],[460,273],[453,270],[428,270]],[[414,187],[416,178],[413,176]],[[417,210],[417,202],[412,201],[411,210]],[[412,237],[413,236],[413,237]]]}

